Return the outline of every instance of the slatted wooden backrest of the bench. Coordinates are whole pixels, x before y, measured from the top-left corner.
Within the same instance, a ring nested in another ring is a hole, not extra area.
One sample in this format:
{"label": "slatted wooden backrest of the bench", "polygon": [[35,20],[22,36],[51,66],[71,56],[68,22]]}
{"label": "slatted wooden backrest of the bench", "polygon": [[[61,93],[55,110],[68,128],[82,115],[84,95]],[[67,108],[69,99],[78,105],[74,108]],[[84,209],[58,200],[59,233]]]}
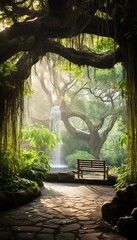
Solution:
{"label": "slatted wooden backrest of the bench", "polygon": [[77,159],[78,168],[87,167],[87,168],[103,168],[106,167],[105,160],[98,160],[98,159],[91,159],[91,160],[84,160],[84,159]]}

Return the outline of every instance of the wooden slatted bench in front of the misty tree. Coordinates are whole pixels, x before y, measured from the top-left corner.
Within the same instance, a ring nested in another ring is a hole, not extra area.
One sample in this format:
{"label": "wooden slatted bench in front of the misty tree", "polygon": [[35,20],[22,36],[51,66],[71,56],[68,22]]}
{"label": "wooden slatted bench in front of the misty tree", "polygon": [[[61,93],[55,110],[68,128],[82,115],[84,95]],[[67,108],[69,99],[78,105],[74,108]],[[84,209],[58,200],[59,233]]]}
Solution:
{"label": "wooden slatted bench in front of the misty tree", "polygon": [[103,179],[108,178],[108,166],[106,165],[105,160],[77,159],[77,166],[78,178],[80,178],[80,176],[83,178],[83,172],[100,172],[103,173]]}

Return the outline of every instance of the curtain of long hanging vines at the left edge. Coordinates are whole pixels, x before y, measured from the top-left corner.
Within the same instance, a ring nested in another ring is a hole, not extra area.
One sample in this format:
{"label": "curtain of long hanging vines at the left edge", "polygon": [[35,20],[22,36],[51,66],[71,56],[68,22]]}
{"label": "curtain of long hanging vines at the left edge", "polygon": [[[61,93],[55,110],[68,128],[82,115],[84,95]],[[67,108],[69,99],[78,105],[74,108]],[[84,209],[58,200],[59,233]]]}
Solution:
{"label": "curtain of long hanging vines at the left edge", "polygon": [[9,61],[0,66],[0,150],[5,151],[9,146],[18,149],[23,118],[24,82],[14,80],[16,71]]}

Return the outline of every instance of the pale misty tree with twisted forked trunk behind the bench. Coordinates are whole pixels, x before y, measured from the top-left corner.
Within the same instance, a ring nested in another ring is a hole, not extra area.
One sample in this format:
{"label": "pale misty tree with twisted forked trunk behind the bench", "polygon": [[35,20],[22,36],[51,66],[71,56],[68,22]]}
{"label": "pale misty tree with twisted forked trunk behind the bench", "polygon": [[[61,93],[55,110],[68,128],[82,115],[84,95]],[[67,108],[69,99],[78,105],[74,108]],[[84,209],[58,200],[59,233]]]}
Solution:
{"label": "pale misty tree with twisted forked trunk behind the bench", "polygon": [[[70,72],[66,61],[61,63],[60,68],[59,59],[54,55],[44,58],[34,67],[32,79],[35,79],[35,84],[36,79],[40,83],[39,89],[38,84],[35,89],[38,96],[42,89],[46,98],[39,102],[37,118],[33,117],[36,116],[34,110],[31,111],[37,104],[35,93],[28,115],[33,123],[50,127],[52,107],[60,107],[62,121],[68,132],[74,139],[83,139],[87,143],[88,151],[94,158],[99,159],[108,134],[124,109],[117,86],[118,80],[114,80],[114,74],[118,77],[118,70],[97,71],[91,68],[87,71],[72,64]],[[32,88],[33,86],[32,83]],[[41,119],[40,108],[45,105],[45,109],[42,107]]]}

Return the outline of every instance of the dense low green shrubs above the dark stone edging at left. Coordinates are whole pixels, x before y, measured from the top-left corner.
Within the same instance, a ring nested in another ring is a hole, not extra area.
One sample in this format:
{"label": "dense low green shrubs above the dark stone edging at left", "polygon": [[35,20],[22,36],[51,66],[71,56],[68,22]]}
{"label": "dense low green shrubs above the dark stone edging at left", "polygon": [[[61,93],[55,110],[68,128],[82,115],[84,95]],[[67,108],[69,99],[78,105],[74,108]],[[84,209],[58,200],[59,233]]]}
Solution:
{"label": "dense low green shrubs above the dark stone edging at left", "polygon": [[43,151],[21,151],[12,149],[0,151],[0,179],[21,176],[40,182],[46,179],[50,170],[49,156]]}

